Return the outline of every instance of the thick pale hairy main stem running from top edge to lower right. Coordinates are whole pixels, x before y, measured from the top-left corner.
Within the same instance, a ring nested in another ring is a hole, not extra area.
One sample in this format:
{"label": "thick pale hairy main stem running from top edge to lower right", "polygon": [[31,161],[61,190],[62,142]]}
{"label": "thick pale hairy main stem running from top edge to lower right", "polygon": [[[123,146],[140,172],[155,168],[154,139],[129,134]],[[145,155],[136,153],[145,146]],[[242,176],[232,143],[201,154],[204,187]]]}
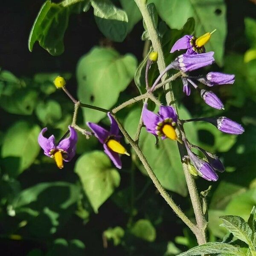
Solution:
{"label": "thick pale hairy main stem running from top edge to lower right", "polygon": [[[148,12],[146,3],[144,0],[134,0],[134,1],[137,4],[137,6],[140,9],[140,12],[143,16],[143,20],[148,29],[148,35],[151,40],[154,51],[158,53],[157,65],[158,65],[159,72],[161,74],[160,76],[162,78],[162,81],[168,80],[168,74],[167,73],[163,74],[163,72],[166,70],[166,63],[164,60],[163,49],[161,47],[161,43],[160,43],[160,39],[157,35],[157,31],[154,28],[154,24],[151,20],[151,16]],[[156,89],[156,87],[154,89]],[[164,90],[166,93],[167,105],[172,105],[174,108],[176,108],[175,97],[174,97],[174,93],[172,90],[172,84],[170,84],[170,83],[164,84]],[[186,149],[184,148],[183,145],[179,145],[179,149],[180,149],[180,157],[182,159],[183,151],[186,151]],[[197,188],[195,185],[195,181],[193,180],[192,175],[188,172],[188,166],[186,163],[183,163],[183,170],[184,170],[184,174],[186,177],[189,195],[190,195],[190,198],[192,201],[192,207],[194,209],[195,218],[197,221],[197,228],[193,229],[192,231],[198,240],[198,244],[204,244],[207,242],[206,235],[205,235],[205,229],[206,229],[207,222],[204,218],[203,209],[202,209],[198,191],[197,191]]]}

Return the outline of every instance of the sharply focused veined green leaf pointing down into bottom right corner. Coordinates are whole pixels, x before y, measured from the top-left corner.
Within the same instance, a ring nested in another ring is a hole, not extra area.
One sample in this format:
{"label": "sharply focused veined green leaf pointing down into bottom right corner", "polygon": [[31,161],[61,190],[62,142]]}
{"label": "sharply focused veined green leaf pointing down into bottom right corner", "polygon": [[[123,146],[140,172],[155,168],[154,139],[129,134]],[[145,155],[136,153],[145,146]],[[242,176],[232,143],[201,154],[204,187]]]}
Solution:
{"label": "sharply focused veined green leaf pointing down into bottom right corner", "polygon": [[253,243],[253,231],[243,218],[233,215],[221,216],[220,218],[223,220],[223,227],[251,247]]}

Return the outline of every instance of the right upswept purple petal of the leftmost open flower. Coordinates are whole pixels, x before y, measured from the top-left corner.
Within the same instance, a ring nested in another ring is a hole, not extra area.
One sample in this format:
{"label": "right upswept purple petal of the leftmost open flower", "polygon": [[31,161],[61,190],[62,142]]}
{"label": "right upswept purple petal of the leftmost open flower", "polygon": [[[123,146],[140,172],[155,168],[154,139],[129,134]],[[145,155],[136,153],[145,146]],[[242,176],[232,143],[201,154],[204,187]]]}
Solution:
{"label": "right upswept purple petal of the leftmost open flower", "polygon": [[76,130],[68,126],[70,130],[69,137],[61,140],[59,144],[57,145],[58,149],[62,149],[67,152],[67,158],[64,159],[64,161],[69,162],[76,154],[76,142],[77,142],[77,133]]}

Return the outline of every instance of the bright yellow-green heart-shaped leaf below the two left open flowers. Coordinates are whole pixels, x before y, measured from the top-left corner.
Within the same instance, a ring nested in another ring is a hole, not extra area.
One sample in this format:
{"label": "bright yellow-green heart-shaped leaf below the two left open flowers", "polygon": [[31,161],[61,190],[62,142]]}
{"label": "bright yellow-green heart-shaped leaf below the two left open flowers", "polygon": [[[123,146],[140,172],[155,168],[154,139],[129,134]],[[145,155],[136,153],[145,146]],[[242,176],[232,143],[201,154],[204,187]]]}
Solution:
{"label": "bright yellow-green heart-shaped leaf below the two left open flowers", "polygon": [[94,212],[112,195],[119,186],[120,175],[111,167],[111,161],[102,151],[83,154],[76,162],[75,172],[79,175]]}

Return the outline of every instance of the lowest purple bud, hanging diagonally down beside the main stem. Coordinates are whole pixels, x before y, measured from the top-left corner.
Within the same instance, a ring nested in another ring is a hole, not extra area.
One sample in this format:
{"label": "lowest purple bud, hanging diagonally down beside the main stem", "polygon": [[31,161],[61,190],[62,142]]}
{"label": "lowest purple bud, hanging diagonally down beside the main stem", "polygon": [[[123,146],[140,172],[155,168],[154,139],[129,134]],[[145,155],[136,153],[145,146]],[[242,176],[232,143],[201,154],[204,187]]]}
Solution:
{"label": "lowest purple bud, hanging diagonally down beside the main stem", "polygon": [[203,159],[199,158],[197,155],[195,155],[188,147],[186,148],[190,160],[197,169],[198,175],[209,181],[218,180],[218,175],[216,174],[212,166]]}

